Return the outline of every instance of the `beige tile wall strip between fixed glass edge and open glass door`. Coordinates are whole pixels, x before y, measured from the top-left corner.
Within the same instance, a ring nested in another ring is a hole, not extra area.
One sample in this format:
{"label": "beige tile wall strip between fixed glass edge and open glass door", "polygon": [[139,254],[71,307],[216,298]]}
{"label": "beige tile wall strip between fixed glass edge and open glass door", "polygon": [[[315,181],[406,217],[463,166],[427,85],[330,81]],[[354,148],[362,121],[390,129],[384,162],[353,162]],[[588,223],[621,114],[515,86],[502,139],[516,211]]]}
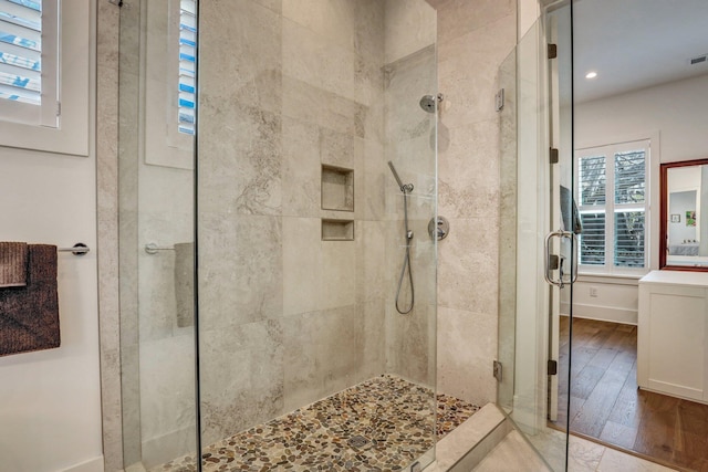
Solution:
{"label": "beige tile wall strip between fixed glass edge and open glass door", "polygon": [[499,253],[498,69],[517,39],[513,0],[431,0],[438,11],[438,389],[496,401]]}

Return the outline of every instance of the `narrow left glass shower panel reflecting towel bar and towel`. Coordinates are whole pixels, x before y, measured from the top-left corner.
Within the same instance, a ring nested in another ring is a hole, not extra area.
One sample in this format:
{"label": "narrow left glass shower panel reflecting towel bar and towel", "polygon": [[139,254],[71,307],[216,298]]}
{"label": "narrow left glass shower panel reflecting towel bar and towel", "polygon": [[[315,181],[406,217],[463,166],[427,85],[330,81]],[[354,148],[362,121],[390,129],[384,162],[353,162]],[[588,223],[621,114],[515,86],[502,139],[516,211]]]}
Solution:
{"label": "narrow left glass shower panel reflecting towel bar and towel", "polygon": [[179,133],[175,106],[179,7],[121,9],[123,441],[135,471],[176,458],[196,470],[194,138]]}

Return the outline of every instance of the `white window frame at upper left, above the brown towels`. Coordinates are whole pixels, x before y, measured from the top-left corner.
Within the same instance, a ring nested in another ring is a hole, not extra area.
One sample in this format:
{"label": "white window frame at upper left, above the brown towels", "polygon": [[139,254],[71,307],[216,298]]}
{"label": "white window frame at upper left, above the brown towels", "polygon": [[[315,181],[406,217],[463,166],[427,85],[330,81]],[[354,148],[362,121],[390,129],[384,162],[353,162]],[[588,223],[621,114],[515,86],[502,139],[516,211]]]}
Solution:
{"label": "white window frame at upper left, above the brown towels", "polygon": [[[0,101],[0,109],[3,109],[0,113],[0,146],[88,156],[91,2],[51,0],[46,3],[59,6],[59,31],[55,33],[59,50],[56,98],[49,96],[45,103],[43,84],[42,113],[46,115],[42,123],[32,124],[27,123],[27,119],[13,119],[10,117],[12,115],[8,116],[17,109],[14,105],[18,104]],[[42,41],[44,34],[42,21]],[[43,46],[42,69],[46,60],[44,51]]]}

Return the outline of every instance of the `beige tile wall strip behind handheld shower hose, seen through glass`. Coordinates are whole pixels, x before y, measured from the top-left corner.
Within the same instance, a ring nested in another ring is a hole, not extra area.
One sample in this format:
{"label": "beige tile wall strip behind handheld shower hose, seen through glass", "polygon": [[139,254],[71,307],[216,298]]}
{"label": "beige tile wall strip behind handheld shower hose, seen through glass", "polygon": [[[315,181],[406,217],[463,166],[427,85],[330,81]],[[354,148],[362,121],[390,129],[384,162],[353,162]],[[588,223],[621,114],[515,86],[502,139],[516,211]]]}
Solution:
{"label": "beige tile wall strip behind handheld shower hose, seen through glass", "polygon": [[[408,7],[413,3],[406,3]],[[434,214],[435,115],[424,112],[418,102],[437,92],[435,51],[435,11],[427,3],[402,9],[400,2],[387,3],[387,12],[399,20],[387,29],[386,51],[391,62],[385,71],[385,150],[404,183],[413,183],[408,197],[409,229],[415,305],[409,314],[396,311],[395,295],[405,256],[403,193],[388,169],[384,169],[387,218],[385,264],[386,287],[386,370],[410,380],[435,382],[435,242],[427,231]],[[393,10],[393,11],[392,11]],[[413,11],[412,11],[413,10]],[[400,24],[403,23],[403,24]],[[388,25],[388,22],[387,22]],[[402,35],[415,31],[415,38]],[[403,40],[403,41],[402,41]],[[400,56],[394,55],[398,53]],[[407,274],[403,279],[399,306],[409,305]]]}

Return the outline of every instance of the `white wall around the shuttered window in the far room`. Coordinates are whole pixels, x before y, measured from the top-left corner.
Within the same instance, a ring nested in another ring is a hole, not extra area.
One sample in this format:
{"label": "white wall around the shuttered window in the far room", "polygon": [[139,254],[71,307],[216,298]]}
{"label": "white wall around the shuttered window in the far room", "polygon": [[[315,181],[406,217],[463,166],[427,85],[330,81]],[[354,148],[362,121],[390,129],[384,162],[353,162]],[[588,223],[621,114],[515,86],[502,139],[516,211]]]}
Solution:
{"label": "white wall around the shuttered window in the far room", "polygon": [[[653,138],[660,162],[699,159],[708,149],[708,75],[575,105],[575,148]],[[656,138],[660,143],[656,145]],[[650,269],[658,269],[658,162],[650,170]],[[597,296],[590,296],[596,287]],[[583,277],[574,286],[573,314],[636,324],[636,281]],[[565,301],[564,313],[568,313]]]}

